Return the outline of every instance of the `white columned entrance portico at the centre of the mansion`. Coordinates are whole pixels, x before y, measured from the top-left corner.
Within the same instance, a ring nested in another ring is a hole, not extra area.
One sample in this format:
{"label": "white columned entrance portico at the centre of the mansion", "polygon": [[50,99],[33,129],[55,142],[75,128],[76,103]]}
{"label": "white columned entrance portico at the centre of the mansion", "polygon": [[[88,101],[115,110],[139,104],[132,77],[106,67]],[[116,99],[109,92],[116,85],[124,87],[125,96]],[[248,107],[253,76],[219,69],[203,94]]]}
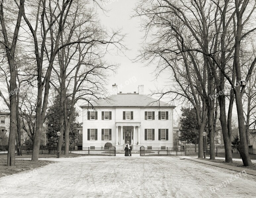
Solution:
{"label": "white columned entrance portico at the centre of the mansion", "polygon": [[138,150],[140,133],[140,122],[116,122],[116,149],[123,150],[126,144],[131,144]]}

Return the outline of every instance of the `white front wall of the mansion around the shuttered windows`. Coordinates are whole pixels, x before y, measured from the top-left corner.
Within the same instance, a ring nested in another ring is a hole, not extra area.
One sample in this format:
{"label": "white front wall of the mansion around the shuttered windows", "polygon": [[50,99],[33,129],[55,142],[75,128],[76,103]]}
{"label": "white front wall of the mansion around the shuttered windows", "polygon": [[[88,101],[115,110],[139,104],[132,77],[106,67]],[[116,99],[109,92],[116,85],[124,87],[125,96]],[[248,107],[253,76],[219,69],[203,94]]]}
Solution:
{"label": "white front wall of the mansion around the shuttered windows", "polygon": [[[83,148],[84,147],[101,147],[104,146],[106,142],[111,142],[113,146],[116,146],[116,122],[118,123],[140,123],[140,145],[141,146],[152,146],[152,147],[173,147],[173,108],[138,108],[138,107],[128,107],[128,108],[100,108],[95,109],[98,112],[97,120],[88,120],[87,119],[88,109],[83,108]],[[93,111],[89,109],[89,111]],[[111,120],[102,120],[101,112],[102,111],[111,111],[112,119]],[[123,111],[133,111],[133,120],[123,120]],[[145,120],[145,111],[154,111],[155,119],[154,120]],[[158,112],[159,111],[168,111],[168,120],[159,120]],[[137,126],[137,125],[136,125]],[[97,128],[98,129],[98,140],[87,140],[87,129]],[[112,129],[112,140],[101,140],[101,129],[111,128]],[[152,128],[155,129],[155,140],[145,140],[145,129]],[[167,140],[158,140],[158,129],[165,128],[168,129],[168,141]],[[133,144],[136,144],[137,137],[134,137],[137,134],[133,133]],[[119,127],[119,139],[118,142],[120,145],[123,143],[123,134],[121,134],[121,128]]]}

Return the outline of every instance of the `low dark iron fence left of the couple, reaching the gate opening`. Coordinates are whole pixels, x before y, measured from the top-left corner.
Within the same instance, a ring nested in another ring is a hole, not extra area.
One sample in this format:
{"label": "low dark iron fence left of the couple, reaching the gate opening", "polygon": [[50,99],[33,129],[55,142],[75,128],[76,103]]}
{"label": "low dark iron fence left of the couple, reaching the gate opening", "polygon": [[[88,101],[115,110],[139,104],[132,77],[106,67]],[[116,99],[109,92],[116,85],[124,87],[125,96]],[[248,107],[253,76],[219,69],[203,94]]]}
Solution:
{"label": "low dark iron fence left of the couple, reaching the gate opening", "polygon": [[70,153],[77,153],[82,155],[108,155],[116,156],[116,147],[83,147],[81,150],[70,149]]}

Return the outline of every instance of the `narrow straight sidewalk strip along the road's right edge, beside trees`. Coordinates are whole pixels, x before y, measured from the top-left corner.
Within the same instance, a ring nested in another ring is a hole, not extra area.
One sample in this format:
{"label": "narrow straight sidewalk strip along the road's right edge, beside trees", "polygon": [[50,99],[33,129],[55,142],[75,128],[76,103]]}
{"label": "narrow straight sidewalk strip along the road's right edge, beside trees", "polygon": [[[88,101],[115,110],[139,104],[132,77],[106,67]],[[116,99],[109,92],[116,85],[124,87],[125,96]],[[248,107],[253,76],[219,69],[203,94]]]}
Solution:
{"label": "narrow straight sidewalk strip along the road's right edge, beside trees", "polygon": [[237,171],[237,172],[242,172],[243,170],[245,170],[247,174],[256,176],[256,171],[255,170],[251,170],[251,169],[247,169],[247,168],[243,168],[243,167],[236,167],[236,166],[230,166],[230,165],[220,164],[220,163],[216,163],[216,162],[210,162],[210,161],[195,159],[194,157],[180,156],[180,158],[184,158],[184,159],[188,159],[188,160],[191,160],[191,161],[195,161],[195,162],[199,162],[199,163],[203,163],[203,164],[208,164],[208,165],[212,165],[212,166],[217,166],[217,167],[220,167],[220,168],[226,168],[226,169],[229,169],[229,170],[232,170],[232,171]]}

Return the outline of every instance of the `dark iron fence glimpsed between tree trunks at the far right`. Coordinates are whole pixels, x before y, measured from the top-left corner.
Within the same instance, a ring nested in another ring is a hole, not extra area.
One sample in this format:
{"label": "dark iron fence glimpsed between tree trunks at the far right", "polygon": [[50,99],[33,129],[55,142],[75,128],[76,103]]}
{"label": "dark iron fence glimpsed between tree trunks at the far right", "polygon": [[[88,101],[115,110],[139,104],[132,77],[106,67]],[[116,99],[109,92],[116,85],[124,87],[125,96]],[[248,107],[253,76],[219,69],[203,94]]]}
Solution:
{"label": "dark iron fence glimpsed between tree trunks at the far right", "polygon": [[[251,159],[256,159],[256,149],[249,148],[249,156]],[[224,147],[215,147],[216,157],[225,157],[225,148]],[[236,148],[232,148],[232,158],[241,159],[240,153]]]}

